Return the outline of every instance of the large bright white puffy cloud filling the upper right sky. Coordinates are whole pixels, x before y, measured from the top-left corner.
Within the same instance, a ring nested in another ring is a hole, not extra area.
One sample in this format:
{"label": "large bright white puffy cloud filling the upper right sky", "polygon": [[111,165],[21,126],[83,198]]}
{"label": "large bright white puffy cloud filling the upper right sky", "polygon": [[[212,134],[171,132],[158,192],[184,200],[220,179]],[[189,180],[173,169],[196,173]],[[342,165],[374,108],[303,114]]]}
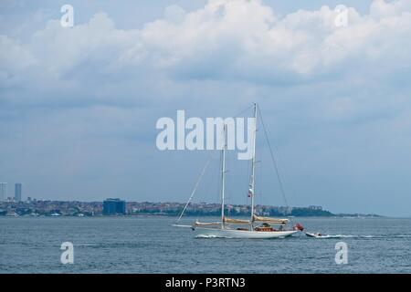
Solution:
{"label": "large bright white puffy cloud filling the upper right sky", "polygon": [[[375,19],[374,7],[382,3],[381,11],[392,12]],[[391,57],[398,47],[410,45],[409,3],[376,1],[370,16],[349,8],[349,25],[337,27],[337,13],[328,6],[277,19],[259,1],[210,1],[177,24],[159,20],[145,26],[137,59],[149,57],[153,65],[187,78],[253,81],[265,75],[270,82],[282,74],[291,74],[290,79],[314,78],[335,73],[338,66],[355,71],[359,61],[373,62],[372,66],[383,62],[393,68],[411,60],[404,50]]]}

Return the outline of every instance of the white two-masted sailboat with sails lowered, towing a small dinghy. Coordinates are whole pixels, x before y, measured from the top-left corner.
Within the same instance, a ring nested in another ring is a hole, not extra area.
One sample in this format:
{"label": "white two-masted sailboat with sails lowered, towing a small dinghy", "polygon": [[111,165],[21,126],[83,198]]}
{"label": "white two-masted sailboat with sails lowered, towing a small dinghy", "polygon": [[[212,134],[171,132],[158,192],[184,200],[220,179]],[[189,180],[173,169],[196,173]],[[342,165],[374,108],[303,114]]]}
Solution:
{"label": "white two-masted sailboat with sails lowered, towing a small dinghy", "polygon": [[[257,125],[257,104],[254,104],[254,120]],[[251,214],[249,220],[228,218],[225,215],[225,193],[226,193],[226,151],[227,151],[227,127],[224,126],[223,141],[224,147],[221,151],[221,221],[202,223],[195,221],[191,226],[175,224],[175,226],[191,227],[196,237],[211,237],[211,238],[249,238],[249,239],[262,239],[262,238],[284,238],[297,233],[301,230],[302,226],[297,224],[293,228],[287,229],[289,219],[285,218],[270,218],[261,217],[255,214],[255,174],[256,174],[256,136],[257,127],[254,130],[253,139],[253,152],[252,152],[252,166],[251,166],[251,180],[249,185],[248,196],[251,198]],[[203,171],[204,172],[204,171]],[[198,184],[198,182],[197,182]],[[197,185],[195,186],[196,189]],[[192,193],[195,193],[195,191]],[[185,208],[189,201],[185,204],[184,210],[179,217],[181,219],[184,214]],[[178,220],[178,221],[179,221]],[[178,222],[177,221],[177,222]]]}

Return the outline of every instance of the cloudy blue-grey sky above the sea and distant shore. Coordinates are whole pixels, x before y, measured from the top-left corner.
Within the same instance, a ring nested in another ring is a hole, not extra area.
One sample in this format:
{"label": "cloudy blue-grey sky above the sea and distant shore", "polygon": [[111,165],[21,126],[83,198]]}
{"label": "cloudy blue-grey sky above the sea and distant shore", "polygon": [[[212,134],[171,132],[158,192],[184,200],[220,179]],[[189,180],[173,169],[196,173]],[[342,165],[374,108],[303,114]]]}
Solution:
{"label": "cloudy blue-grey sky above the sea and distant shore", "polygon": [[[290,205],[411,215],[411,0],[3,0],[0,51],[9,195],[185,202],[212,154],[195,200],[218,202],[218,153],[159,151],[156,121],[258,102]],[[283,205],[258,143],[257,202]],[[228,155],[228,202],[248,203]]]}

